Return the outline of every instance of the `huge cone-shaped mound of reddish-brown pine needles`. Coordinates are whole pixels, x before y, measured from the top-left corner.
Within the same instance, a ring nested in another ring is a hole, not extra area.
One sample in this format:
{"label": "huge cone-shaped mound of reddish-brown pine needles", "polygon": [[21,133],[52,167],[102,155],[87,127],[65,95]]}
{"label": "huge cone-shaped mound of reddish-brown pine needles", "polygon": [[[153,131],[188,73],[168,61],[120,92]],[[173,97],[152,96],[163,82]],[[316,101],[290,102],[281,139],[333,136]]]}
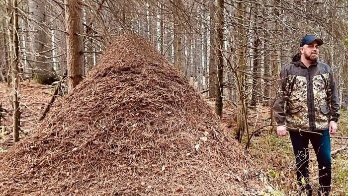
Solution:
{"label": "huge cone-shaped mound of reddish-brown pine needles", "polygon": [[0,193],[241,195],[257,186],[241,180],[254,167],[242,149],[153,46],[122,35],[35,133],[0,153]]}

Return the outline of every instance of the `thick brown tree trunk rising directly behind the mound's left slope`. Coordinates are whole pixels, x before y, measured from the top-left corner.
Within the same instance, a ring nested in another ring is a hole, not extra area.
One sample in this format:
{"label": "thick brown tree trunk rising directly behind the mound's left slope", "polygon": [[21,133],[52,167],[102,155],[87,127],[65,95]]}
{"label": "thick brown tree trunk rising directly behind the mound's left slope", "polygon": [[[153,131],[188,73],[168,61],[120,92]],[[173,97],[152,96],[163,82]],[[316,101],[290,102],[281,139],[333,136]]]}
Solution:
{"label": "thick brown tree trunk rising directly behind the mound's left slope", "polygon": [[82,30],[82,16],[79,0],[65,0],[65,25],[67,31],[68,91],[72,92],[85,76],[83,39],[78,33]]}

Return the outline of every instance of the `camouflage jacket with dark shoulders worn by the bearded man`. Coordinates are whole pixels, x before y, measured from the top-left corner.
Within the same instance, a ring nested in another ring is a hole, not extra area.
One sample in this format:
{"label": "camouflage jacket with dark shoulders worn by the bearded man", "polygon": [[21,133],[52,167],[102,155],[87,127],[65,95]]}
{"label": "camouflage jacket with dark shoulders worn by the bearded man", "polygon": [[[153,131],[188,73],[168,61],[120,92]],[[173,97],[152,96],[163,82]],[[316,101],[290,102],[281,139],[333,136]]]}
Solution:
{"label": "camouflage jacket with dark shoulders worn by the bearded man", "polygon": [[273,104],[274,120],[291,130],[321,131],[338,121],[339,97],[332,69],[318,62],[308,68],[297,54],[282,67]]}

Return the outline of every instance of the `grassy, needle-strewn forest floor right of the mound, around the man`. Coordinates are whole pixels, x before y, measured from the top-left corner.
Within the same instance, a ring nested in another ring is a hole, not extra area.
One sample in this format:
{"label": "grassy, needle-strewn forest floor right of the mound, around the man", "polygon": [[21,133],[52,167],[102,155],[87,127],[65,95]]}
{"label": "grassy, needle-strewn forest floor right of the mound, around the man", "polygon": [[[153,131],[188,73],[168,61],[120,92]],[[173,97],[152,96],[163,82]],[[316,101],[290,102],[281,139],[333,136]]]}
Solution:
{"label": "grassy, needle-strewn forest floor right of the mound, around the man", "polygon": [[[214,106],[214,102],[208,101]],[[235,114],[236,107],[226,103],[224,105],[224,116],[222,123],[226,125],[231,133],[235,135]],[[333,179],[332,196],[348,196],[348,111],[340,111],[339,132],[331,136],[331,149],[345,148],[345,150],[335,153],[332,157]],[[264,125],[270,124],[270,110],[267,107],[260,107],[248,115],[249,132],[254,132]],[[292,145],[289,136],[278,137],[271,131],[271,127],[262,129],[260,136],[254,136],[248,149],[255,161],[260,161],[262,170],[267,174],[262,181],[270,184],[272,192],[269,196],[295,196],[297,183],[295,181],[295,163]],[[246,138],[246,137],[244,137]],[[247,139],[243,139],[242,144],[246,145]],[[315,153],[310,145],[310,183],[314,189],[318,185],[318,164]]]}

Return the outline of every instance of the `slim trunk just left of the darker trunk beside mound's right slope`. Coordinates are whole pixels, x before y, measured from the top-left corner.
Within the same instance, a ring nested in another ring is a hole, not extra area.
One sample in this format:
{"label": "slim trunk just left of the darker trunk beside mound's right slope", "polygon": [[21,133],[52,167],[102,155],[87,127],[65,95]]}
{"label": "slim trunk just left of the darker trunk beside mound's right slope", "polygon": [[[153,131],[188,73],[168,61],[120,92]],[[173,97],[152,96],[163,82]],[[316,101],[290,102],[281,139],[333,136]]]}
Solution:
{"label": "slim trunk just left of the darker trunk beside mound's right slope", "polygon": [[215,65],[215,0],[209,1],[209,17],[210,17],[210,46],[209,46],[209,97],[215,98],[215,81],[216,81],[216,65]]}

